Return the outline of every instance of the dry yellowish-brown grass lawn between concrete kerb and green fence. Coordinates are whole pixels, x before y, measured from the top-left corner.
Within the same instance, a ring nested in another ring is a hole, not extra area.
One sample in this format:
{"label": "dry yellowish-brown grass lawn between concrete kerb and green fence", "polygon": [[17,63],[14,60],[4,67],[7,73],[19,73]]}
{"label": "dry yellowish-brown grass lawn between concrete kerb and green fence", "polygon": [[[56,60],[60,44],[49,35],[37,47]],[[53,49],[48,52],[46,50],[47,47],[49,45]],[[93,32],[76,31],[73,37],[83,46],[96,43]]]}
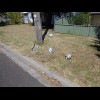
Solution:
{"label": "dry yellowish-brown grass lawn between concrete kerb and green fence", "polygon": [[[44,30],[43,30],[44,32]],[[96,38],[60,34],[49,30],[53,37],[46,36],[44,43],[33,52],[36,41],[34,26],[9,25],[0,27],[0,41],[28,56],[49,70],[69,79],[80,86],[100,86],[100,47]],[[54,47],[55,52],[49,54],[48,48]],[[72,59],[65,59],[71,53]]]}

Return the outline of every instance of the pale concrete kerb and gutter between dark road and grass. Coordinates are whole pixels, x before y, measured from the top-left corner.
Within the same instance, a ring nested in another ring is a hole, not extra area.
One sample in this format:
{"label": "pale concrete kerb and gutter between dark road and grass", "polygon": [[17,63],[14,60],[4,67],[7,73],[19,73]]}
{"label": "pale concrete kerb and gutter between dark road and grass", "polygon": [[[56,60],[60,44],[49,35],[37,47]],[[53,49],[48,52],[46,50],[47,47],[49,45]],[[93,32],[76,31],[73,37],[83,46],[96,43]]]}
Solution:
{"label": "pale concrete kerb and gutter between dark road and grass", "polygon": [[30,59],[26,56],[22,56],[16,50],[11,49],[3,43],[0,43],[0,49],[2,53],[6,54],[10,59],[12,59],[15,63],[17,63],[25,71],[27,71],[29,74],[38,79],[42,84],[44,84],[47,87],[53,87],[54,85],[52,85],[46,79],[44,79],[40,74],[37,73],[37,71],[45,73],[45,75],[47,75],[48,77],[53,78],[55,81],[61,84],[61,87],[80,87],[78,84],[72,83],[69,80],[65,80],[63,77],[49,71],[47,68],[38,64],[33,59]]}

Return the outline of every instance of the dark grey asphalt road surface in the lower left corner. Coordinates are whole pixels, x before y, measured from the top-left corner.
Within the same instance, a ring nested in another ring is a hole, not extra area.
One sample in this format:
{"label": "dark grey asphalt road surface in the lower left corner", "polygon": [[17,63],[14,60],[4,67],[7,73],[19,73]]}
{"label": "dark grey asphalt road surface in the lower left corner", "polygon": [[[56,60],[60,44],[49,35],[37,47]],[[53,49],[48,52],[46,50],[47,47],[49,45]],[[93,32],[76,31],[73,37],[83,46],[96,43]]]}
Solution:
{"label": "dark grey asphalt road surface in the lower left corner", "polygon": [[0,53],[0,87],[44,87],[44,85]]}

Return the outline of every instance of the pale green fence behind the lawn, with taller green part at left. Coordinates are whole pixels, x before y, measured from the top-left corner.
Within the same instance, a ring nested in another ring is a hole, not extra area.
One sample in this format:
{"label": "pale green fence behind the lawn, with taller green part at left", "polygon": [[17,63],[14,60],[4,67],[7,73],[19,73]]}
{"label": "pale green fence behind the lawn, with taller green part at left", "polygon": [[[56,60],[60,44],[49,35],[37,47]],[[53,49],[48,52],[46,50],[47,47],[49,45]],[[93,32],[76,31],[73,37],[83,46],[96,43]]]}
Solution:
{"label": "pale green fence behind the lawn, with taller green part at left", "polygon": [[66,34],[75,34],[75,35],[82,35],[82,36],[91,36],[96,37],[97,34],[97,26],[83,26],[83,25],[70,25],[68,24],[67,19],[58,19],[55,20],[54,24],[55,32],[59,33],[66,33]]}

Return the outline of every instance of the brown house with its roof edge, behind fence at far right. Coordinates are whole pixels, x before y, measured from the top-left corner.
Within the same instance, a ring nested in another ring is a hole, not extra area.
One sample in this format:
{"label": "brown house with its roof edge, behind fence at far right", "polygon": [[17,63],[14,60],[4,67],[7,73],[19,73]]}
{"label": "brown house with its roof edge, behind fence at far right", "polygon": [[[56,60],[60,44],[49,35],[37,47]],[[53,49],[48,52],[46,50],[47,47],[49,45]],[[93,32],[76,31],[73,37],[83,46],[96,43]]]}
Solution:
{"label": "brown house with its roof edge, behind fence at far right", "polygon": [[90,24],[91,24],[91,26],[99,26],[100,25],[100,12],[91,12]]}

